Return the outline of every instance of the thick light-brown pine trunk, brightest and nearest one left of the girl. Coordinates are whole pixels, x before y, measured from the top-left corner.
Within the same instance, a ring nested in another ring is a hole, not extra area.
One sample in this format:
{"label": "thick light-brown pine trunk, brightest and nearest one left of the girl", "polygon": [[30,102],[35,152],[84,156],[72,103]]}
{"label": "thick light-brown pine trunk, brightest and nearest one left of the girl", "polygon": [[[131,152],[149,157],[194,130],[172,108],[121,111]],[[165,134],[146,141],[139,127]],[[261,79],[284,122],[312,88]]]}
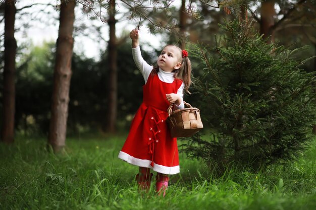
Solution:
{"label": "thick light-brown pine trunk, brightest and nearest one left of the girl", "polygon": [[60,152],[65,147],[69,88],[72,75],[71,58],[74,42],[72,37],[75,19],[74,11],[74,0],[61,3],[48,136],[48,144],[54,152]]}

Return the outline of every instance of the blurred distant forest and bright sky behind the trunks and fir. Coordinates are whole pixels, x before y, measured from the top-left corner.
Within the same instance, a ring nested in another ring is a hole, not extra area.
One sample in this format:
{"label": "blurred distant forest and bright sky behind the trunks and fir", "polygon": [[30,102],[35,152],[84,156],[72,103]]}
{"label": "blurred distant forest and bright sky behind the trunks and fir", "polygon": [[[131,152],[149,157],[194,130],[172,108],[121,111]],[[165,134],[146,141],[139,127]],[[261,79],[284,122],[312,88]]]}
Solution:
{"label": "blurred distant forest and bright sky behind the trunks and fir", "polygon": [[[165,6],[168,10],[153,9],[160,7],[161,2],[149,3],[148,1],[144,4],[147,4],[149,9],[138,6],[143,10],[145,17],[142,17],[135,9],[137,1],[131,2],[134,4],[134,9],[129,7],[131,6],[129,3],[117,1],[115,23],[120,29],[116,29],[115,33],[115,50],[117,50],[118,60],[113,71],[111,69],[113,67],[109,65],[109,59],[112,59],[109,55],[113,54],[109,51],[111,42],[109,16],[106,16],[109,15],[107,13],[109,6],[104,3],[104,8],[99,8],[101,13],[98,14],[89,9],[89,6],[84,8],[85,2],[89,1],[77,3],[73,28],[75,49],[71,66],[73,74],[69,91],[67,132],[75,135],[87,131],[128,130],[132,116],[142,100],[143,83],[131,56],[131,44],[128,38],[130,29],[141,26],[141,34],[145,35],[144,39],[142,36],[140,39],[143,56],[148,63],[154,64],[156,55],[167,43],[181,45],[181,40],[183,40],[190,44],[199,42],[214,46],[215,35],[219,37],[223,33],[219,30],[218,24],[223,24],[225,20],[236,19],[243,12],[238,5],[242,1],[207,1],[208,3],[167,1],[164,4],[170,4],[167,5],[168,7]],[[14,128],[16,132],[46,136],[49,130],[56,44],[51,38],[42,43],[34,40],[41,40],[40,36],[36,35],[36,30],[42,31],[39,33],[43,35],[50,34],[50,37],[51,34],[58,34],[59,12],[54,9],[59,3],[54,1],[49,4],[33,1],[28,3],[29,5],[25,5],[27,1],[23,1],[23,4],[19,1],[16,3],[15,31],[19,34],[19,38],[17,38],[16,52]],[[181,4],[184,6],[182,13]],[[291,49],[307,46],[300,56],[310,57],[315,54],[316,43],[314,5],[313,1],[264,1],[262,3],[250,1],[245,14],[249,16],[249,19],[255,19],[257,23],[254,27],[258,32],[264,34],[264,30],[267,31],[264,37],[271,36],[271,40],[277,45],[284,45]],[[94,5],[94,7],[98,6]],[[133,10],[135,11],[131,12]],[[182,20],[183,23],[180,23],[181,19],[185,21]],[[4,26],[4,16],[1,24]],[[151,33],[153,35],[146,38],[147,34]],[[180,33],[182,35],[179,36]],[[2,31],[2,37],[4,37],[4,31]],[[1,53],[4,56],[3,38],[1,42]],[[193,72],[194,76],[198,77],[201,71],[194,61],[193,58]],[[303,68],[311,72],[315,68],[315,63],[315,59],[309,60]],[[3,68],[4,59],[1,62],[2,73]],[[115,72],[117,76],[111,78],[113,77],[111,72]],[[0,80],[1,84],[4,84],[3,74]],[[109,99],[110,91],[113,90],[109,88],[111,84],[109,81],[117,81],[114,89],[117,100]],[[3,93],[4,87],[0,88],[0,93]],[[3,94],[0,97],[2,99],[0,107],[3,110]],[[184,99],[193,100],[189,95],[186,95]],[[113,103],[116,104],[113,105]],[[117,107],[117,110],[113,111],[111,107]],[[114,113],[117,117],[109,118],[109,113]],[[4,121],[1,122],[3,124]]]}

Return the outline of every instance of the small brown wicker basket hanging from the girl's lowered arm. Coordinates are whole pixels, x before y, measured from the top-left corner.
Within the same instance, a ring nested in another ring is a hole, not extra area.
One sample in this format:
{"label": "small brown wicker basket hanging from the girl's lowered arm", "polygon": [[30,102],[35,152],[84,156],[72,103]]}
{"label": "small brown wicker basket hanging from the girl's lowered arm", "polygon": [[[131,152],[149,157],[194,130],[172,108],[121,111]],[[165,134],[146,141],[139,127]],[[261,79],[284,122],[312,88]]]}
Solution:
{"label": "small brown wicker basket hanging from the girl's lowered arm", "polygon": [[168,108],[167,123],[172,137],[189,137],[203,128],[200,110],[183,101],[189,108],[177,109],[172,112],[173,104]]}

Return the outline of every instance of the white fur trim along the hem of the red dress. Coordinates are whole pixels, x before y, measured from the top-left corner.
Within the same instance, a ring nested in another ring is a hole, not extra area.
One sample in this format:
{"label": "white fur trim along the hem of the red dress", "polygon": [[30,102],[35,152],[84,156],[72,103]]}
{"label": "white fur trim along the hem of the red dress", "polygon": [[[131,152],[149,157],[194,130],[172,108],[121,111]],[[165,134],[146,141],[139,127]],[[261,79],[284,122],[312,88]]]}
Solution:
{"label": "white fur trim along the hem of the red dress", "polygon": [[133,156],[130,156],[127,153],[124,153],[120,151],[119,157],[123,161],[126,161],[127,163],[133,164],[135,166],[140,166],[140,167],[145,167],[145,168],[151,168],[153,171],[156,171],[158,173],[162,174],[178,174],[180,173],[180,166],[173,166],[173,167],[168,167],[168,166],[162,166],[153,163],[153,167],[150,165],[151,161],[150,160],[144,160],[144,159],[138,159],[134,158]]}

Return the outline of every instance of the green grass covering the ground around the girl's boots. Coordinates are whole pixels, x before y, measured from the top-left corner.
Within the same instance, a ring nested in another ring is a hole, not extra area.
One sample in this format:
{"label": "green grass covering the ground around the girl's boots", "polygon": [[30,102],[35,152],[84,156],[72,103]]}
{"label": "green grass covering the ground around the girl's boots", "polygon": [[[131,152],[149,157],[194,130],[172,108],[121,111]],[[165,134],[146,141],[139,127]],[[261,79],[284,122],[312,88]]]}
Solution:
{"label": "green grass covering the ground around the girl's boots", "polygon": [[138,193],[138,168],[117,158],[124,140],[69,138],[65,155],[46,152],[44,138],[0,144],[0,209],[316,209],[316,139],[287,166],[221,178],[180,154],[165,198]]}

